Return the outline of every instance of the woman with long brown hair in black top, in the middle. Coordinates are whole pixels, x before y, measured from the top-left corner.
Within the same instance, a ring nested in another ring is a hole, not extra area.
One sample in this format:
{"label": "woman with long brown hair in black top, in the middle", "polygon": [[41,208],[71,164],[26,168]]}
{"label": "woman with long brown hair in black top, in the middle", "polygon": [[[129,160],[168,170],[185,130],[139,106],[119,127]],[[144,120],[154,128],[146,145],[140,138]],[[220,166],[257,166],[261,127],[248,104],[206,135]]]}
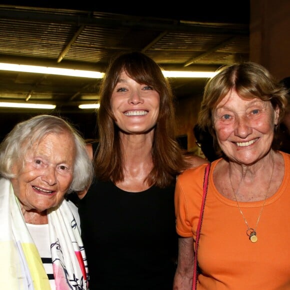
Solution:
{"label": "woman with long brown hair in black top, in the middle", "polygon": [[90,290],[171,290],[176,175],[206,160],[182,155],[171,88],[145,54],[112,59],[99,103],[95,181],[78,207]]}

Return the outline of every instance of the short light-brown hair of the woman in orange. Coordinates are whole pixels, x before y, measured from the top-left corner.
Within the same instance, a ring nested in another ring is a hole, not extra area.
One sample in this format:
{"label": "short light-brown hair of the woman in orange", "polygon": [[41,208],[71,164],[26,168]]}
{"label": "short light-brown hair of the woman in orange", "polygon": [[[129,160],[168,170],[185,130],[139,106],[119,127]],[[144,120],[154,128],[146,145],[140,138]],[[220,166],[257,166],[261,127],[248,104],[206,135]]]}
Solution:
{"label": "short light-brown hair of the woman in orange", "polygon": [[198,114],[198,124],[202,129],[208,129],[213,138],[212,111],[231,88],[242,97],[270,101],[274,109],[278,106],[281,121],[287,103],[287,90],[265,67],[250,61],[224,65],[207,81]]}

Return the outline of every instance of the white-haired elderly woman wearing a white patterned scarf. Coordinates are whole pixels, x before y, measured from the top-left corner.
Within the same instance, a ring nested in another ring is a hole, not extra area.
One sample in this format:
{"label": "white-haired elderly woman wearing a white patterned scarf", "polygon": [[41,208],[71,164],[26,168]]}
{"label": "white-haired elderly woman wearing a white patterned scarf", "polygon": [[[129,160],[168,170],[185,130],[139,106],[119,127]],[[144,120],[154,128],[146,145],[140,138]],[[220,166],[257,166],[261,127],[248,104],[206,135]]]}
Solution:
{"label": "white-haired elderly woman wearing a white patterned scarf", "polygon": [[2,288],[88,289],[77,208],[64,199],[93,177],[78,132],[52,115],[16,124],[0,144],[0,174]]}

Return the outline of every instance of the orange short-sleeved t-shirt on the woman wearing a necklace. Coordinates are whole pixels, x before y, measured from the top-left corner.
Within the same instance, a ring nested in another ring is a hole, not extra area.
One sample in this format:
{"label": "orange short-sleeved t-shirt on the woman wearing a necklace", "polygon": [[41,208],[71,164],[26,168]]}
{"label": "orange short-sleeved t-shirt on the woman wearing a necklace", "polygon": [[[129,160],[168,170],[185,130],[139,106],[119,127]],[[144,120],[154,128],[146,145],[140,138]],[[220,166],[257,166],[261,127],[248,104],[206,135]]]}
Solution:
{"label": "orange short-sleeved t-shirt on the woman wearing a necklace", "polygon": [[[280,152],[285,172],[277,192],[266,199],[256,228],[257,242],[246,235],[247,226],[234,200],[222,196],[213,183],[211,163],[198,245],[198,289],[290,289],[290,154]],[[202,199],[206,164],[188,169],[175,187],[176,231],[192,236]],[[239,202],[250,227],[255,227],[262,201]]]}

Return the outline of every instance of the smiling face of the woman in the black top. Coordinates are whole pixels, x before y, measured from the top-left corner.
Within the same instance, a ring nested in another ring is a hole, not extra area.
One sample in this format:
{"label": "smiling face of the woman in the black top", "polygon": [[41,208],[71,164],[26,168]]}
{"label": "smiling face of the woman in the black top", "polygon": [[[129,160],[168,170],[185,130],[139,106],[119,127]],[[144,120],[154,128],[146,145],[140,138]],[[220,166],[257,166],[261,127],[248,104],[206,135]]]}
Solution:
{"label": "smiling face of the woman in the black top", "polygon": [[156,90],[134,81],[124,71],[111,95],[116,125],[129,134],[145,133],[155,126],[159,103]]}

